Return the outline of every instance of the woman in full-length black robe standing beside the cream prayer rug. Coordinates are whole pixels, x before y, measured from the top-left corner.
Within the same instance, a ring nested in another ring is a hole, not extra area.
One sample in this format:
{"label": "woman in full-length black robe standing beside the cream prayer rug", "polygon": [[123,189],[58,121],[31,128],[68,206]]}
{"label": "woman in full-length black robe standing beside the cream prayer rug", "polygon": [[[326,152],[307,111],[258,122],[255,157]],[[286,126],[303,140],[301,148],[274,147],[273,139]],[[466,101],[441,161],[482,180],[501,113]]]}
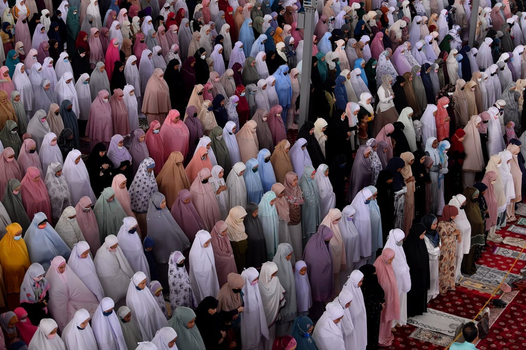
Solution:
{"label": "woman in full-length black robe standing beside the cream prayer rug", "polygon": [[411,277],[411,289],[407,292],[407,316],[413,317],[427,312],[427,292],[430,287],[429,255],[423,240],[426,227],[421,223],[413,224],[403,251]]}

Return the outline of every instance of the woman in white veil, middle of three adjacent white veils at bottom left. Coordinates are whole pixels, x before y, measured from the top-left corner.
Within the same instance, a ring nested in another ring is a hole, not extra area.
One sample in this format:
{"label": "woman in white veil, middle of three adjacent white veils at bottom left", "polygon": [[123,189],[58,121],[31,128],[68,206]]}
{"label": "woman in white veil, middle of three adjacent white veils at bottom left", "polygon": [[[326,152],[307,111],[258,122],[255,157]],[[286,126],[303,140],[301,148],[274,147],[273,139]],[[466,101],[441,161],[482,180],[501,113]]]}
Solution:
{"label": "woman in white veil, middle of three adjacent white veils at bottom left", "polygon": [[81,308],[77,310],[73,320],[64,328],[62,338],[68,349],[92,350],[97,348],[97,341],[89,323],[82,330],[78,329],[80,324],[90,318],[89,312],[85,308]]}

